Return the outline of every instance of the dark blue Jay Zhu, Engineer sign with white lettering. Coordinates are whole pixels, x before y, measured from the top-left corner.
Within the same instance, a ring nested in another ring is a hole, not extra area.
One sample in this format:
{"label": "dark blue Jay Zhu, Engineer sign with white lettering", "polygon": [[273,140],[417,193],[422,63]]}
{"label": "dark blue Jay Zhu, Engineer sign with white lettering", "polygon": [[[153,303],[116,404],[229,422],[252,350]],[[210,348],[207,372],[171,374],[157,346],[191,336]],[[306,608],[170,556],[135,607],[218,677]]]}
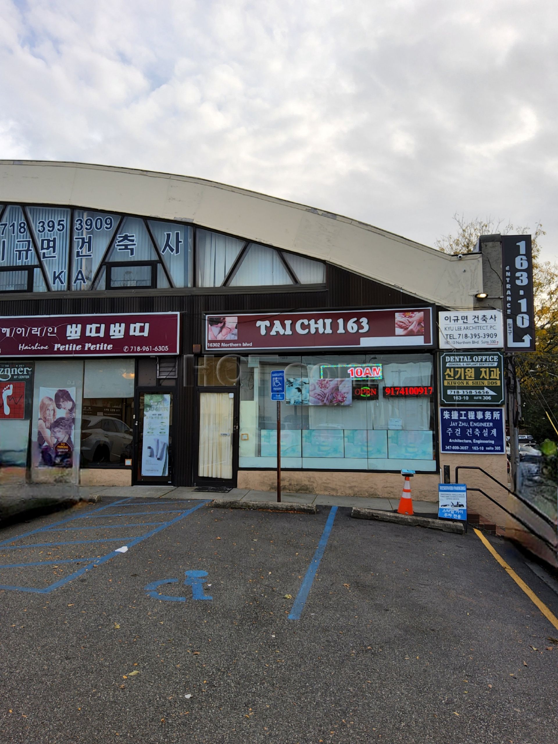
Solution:
{"label": "dark blue Jay Zhu, Engineer sign with white lettering", "polygon": [[504,409],[440,408],[440,452],[504,455]]}

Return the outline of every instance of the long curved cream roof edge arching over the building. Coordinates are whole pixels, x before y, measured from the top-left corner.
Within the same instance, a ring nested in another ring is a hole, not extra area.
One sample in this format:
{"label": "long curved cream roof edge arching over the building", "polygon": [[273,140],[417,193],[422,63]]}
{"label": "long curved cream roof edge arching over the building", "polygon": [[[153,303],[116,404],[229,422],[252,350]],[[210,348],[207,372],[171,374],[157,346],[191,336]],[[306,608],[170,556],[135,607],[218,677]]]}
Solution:
{"label": "long curved cream roof edge arching over the building", "polygon": [[0,161],[0,203],[180,219],[326,260],[444,307],[472,308],[481,254],[461,259],[365,222],[190,176],[57,161]]}

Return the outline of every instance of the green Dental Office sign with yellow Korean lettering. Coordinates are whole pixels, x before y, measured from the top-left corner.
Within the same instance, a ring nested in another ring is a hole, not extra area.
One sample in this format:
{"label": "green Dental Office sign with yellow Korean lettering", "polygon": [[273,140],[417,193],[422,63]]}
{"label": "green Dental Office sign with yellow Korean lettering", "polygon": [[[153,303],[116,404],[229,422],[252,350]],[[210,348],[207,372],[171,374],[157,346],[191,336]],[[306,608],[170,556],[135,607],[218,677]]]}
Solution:
{"label": "green Dental Office sign with yellow Korean lettering", "polygon": [[504,356],[491,353],[440,354],[442,403],[504,403]]}

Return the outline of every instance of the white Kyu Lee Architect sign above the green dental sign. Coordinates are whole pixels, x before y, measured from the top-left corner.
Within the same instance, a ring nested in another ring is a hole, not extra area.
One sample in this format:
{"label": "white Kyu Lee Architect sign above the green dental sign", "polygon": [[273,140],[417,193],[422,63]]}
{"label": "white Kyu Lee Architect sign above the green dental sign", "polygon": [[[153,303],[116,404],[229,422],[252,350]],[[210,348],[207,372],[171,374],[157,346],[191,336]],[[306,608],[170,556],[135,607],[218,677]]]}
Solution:
{"label": "white Kyu Lee Architect sign above the green dental sign", "polygon": [[438,312],[440,349],[501,348],[504,346],[501,310]]}

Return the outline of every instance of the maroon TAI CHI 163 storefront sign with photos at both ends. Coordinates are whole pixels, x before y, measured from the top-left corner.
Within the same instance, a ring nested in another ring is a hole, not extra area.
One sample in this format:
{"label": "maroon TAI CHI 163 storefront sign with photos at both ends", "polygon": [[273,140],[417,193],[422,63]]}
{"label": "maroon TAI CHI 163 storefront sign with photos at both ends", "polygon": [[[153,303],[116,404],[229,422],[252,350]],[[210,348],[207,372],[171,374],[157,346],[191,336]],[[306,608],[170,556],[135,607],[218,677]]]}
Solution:
{"label": "maroon TAI CHI 163 storefront sign with photos at both ends", "polygon": [[206,315],[205,350],[432,347],[432,308]]}

